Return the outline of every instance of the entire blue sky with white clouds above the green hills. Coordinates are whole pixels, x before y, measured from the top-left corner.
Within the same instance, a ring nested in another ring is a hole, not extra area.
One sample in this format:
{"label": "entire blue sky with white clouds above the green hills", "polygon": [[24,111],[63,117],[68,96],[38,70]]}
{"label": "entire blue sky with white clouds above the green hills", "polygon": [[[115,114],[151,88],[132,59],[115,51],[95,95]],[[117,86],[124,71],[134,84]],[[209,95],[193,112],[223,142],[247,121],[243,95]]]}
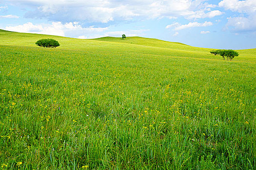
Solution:
{"label": "entire blue sky with white clouds above the green hills", "polygon": [[0,29],[73,38],[142,36],[256,48],[256,0],[0,0]]}

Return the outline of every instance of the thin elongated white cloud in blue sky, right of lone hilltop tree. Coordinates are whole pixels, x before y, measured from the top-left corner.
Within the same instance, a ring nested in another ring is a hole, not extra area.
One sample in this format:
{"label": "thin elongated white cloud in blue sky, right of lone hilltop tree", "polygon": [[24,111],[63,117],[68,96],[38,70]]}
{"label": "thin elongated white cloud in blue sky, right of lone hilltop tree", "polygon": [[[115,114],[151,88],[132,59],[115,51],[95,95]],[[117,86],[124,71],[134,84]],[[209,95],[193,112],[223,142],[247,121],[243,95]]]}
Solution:
{"label": "thin elongated white cloud in blue sky, right of lone hilltop tree", "polygon": [[212,22],[207,22],[205,21],[204,23],[198,23],[198,22],[190,22],[188,24],[184,24],[184,25],[181,25],[180,23],[176,22],[174,24],[171,24],[171,25],[167,25],[165,28],[172,28],[174,27],[174,30],[183,30],[183,29],[186,29],[186,28],[192,28],[192,27],[208,27],[208,26],[211,26],[213,25]]}

